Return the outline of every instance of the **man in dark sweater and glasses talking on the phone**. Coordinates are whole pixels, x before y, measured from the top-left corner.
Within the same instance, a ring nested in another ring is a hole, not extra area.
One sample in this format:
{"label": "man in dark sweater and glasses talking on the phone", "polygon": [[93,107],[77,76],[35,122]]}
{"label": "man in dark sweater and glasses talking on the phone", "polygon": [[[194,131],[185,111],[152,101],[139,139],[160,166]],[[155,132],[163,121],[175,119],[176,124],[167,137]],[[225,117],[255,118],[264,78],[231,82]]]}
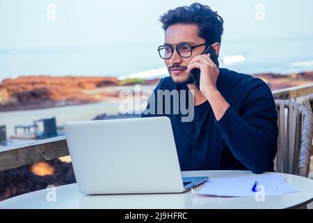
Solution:
{"label": "man in dark sweater and glasses talking on the phone", "polygon": [[[204,169],[248,169],[255,174],[273,170],[277,151],[277,112],[271,90],[261,79],[218,68],[210,54],[211,45],[220,51],[223,18],[209,6],[193,3],[169,10],[160,17],[165,43],[159,47],[170,77],[161,79],[157,91],[191,91],[194,117],[168,116],[182,171]],[[190,72],[200,69],[200,90]],[[179,96],[179,100],[188,100]],[[153,100],[152,100],[153,98]],[[159,96],[150,97],[143,117],[159,116]],[[154,105],[154,106],[152,106]],[[162,108],[163,109],[163,108]],[[163,109],[164,111],[164,109]]]}

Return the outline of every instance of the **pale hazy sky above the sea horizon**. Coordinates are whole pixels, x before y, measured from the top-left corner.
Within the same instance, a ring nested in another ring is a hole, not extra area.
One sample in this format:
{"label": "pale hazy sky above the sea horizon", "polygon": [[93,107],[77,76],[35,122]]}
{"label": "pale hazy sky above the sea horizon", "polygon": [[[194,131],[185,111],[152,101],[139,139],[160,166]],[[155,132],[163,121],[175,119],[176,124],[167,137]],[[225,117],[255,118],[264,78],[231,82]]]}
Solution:
{"label": "pale hazy sky above the sea horizon", "polygon": [[[0,49],[163,43],[159,16],[188,0],[0,0]],[[312,0],[198,1],[225,40],[313,38]]]}

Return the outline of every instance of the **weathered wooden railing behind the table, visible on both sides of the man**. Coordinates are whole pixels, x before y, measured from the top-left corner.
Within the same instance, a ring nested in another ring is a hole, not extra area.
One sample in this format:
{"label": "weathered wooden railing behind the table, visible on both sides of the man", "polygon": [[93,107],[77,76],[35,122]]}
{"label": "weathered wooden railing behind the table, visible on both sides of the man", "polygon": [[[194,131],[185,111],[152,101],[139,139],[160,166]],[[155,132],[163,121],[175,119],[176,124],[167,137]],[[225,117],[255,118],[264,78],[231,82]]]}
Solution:
{"label": "weathered wooden railing behind the table, visible on both sides of the man", "polygon": [[[299,98],[313,93],[313,83],[273,91],[275,99]],[[0,148],[0,171],[70,155],[65,137]]]}

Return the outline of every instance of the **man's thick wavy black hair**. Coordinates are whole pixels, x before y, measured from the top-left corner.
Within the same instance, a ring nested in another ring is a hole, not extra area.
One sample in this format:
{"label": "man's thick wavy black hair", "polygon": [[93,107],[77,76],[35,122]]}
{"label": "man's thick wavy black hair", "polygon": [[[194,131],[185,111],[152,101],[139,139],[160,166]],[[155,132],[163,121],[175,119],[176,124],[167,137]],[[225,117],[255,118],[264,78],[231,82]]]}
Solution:
{"label": "man's thick wavy black hair", "polygon": [[224,20],[209,6],[193,3],[191,6],[181,6],[174,10],[168,10],[160,17],[164,31],[173,24],[197,24],[198,36],[204,38],[207,43],[220,43],[223,35]]}

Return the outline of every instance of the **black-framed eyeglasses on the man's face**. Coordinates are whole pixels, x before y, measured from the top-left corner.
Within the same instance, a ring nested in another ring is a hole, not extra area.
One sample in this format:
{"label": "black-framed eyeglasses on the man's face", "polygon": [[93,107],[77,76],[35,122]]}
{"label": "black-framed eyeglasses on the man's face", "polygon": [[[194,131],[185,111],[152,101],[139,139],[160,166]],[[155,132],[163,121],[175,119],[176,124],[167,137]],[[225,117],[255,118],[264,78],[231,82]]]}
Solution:
{"label": "black-framed eyeglasses on the man's face", "polygon": [[[188,58],[193,54],[193,48],[203,45],[209,45],[209,43],[202,43],[195,46],[192,46],[188,43],[179,43],[176,45],[175,49],[179,56],[181,56],[182,58]],[[159,46],[158,51],[161,59],[168,60],[172,57],[172,54],[174,53],[174,47],[172,45],[161,45]]]}

